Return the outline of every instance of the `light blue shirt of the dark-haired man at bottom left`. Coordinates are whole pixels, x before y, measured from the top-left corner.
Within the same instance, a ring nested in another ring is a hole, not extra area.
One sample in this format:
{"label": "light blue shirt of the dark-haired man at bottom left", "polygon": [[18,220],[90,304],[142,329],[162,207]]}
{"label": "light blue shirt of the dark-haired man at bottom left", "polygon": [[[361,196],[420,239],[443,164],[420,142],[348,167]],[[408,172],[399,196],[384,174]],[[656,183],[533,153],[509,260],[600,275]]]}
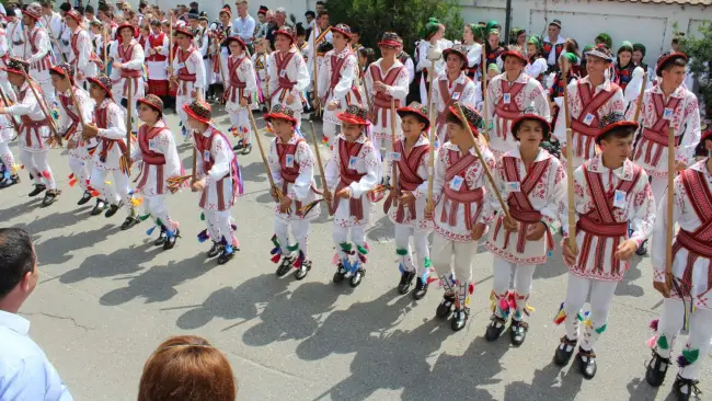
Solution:
{"label": "light blue shirt of the dark-haired man at bottom left", "polygon": [[0,400],[72,401],[28,330],[28,320],[0,310]]}

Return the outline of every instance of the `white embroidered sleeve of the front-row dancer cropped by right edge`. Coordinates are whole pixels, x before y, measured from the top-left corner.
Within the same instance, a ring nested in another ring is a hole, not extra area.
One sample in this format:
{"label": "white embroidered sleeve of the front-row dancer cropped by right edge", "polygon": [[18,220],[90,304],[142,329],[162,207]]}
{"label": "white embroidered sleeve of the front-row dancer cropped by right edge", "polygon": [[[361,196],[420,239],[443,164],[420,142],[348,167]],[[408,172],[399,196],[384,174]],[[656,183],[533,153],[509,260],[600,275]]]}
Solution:
{"label": "white embroidered sleeve of the front-row dancer cropped by right edge", "polygon": [[[675,206],[673,207],[671,224],[675,224],[675,221],[677,221],[685,213],[684,206],[689,203],[682,180],[679,175],[675,179],[675,194],[673,196]],[[667,221],[667,190],[665,190],[665,193],[661,198],[661,205],[657,210],[658,213],[655,217],[655,227],[653,229],[653,238],[651,239],[650,248],[654,270],[653,280],[665,282],[665,267],[667,263],[667,225],[670,224]]]}

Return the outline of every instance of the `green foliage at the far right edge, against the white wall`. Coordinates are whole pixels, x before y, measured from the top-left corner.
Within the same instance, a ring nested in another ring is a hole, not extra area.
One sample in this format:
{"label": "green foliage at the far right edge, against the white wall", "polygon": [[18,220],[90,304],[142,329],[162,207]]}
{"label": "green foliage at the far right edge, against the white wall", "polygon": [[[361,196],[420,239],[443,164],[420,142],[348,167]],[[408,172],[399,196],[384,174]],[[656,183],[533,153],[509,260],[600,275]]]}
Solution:
{"label": "green foliage at the far right edge, against the white wall", "polygon": [[681,41],[682,53],[690,57],[690,71],[694,73],[700,83],[700,95],[708,105],[707,116],[712,117],[712,24],[704,23],[700,34],[687,36]]}

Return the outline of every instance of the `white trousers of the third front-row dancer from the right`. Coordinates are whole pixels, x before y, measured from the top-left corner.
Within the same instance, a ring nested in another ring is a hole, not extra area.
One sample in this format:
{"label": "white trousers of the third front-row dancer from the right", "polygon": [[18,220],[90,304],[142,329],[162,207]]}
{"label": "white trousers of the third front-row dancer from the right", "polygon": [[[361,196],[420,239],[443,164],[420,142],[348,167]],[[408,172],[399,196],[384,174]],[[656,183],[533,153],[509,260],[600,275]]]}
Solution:
{"label": "white trousers of the third front-row dancer from the right", "polygon": [[508,309],[503,309],[499,305],[501,299],[507,299],[509,296],[509,283],[512,282],[512,271],[514,271],[514,291],[512,293],[516,302],[516,313],[514,319],[521,320],[525,316],[527,308],[527,300],[531,294],[531,282],[533,278],[535,267],[533,264],[516,264],[497,256],[493,257],[494,263],[492,266],[494,279],[492,282],[492,290],[495,300],[494,313],[505,319],[512,312]]}

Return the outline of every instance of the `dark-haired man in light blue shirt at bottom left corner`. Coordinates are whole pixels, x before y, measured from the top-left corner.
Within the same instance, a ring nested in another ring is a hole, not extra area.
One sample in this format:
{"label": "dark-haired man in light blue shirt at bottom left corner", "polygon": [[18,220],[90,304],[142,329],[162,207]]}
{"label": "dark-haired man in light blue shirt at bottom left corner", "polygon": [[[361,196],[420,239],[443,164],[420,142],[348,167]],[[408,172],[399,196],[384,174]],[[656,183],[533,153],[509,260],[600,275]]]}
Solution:
{"label": "dark-haired man in light blue shirt at bottom left corner", "polygon": [[37,257],[26,231],[0,228],[0,400],[68,401],[71,394],[18,310],[37,286]]}

